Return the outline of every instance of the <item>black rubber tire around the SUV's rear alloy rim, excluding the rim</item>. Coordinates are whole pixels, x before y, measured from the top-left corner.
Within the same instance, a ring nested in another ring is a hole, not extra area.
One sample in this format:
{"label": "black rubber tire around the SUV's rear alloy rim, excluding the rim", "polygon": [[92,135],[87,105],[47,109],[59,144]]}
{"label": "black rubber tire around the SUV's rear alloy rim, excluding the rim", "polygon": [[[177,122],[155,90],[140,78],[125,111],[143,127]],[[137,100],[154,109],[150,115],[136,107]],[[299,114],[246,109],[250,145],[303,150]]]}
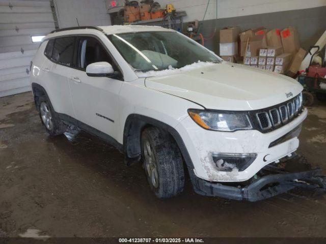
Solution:
{"label": "black rubber tire around the SUV's rear alloy rim, excluding the rim", "polygon": [[[46,104],[46,108],[48,109],[48,111],[50,112],[51,115],[51,121],[52,121],[52,126],[50,128],[48,128],[43,119],[42,119],[42,104]],[[44,125],[44,128],[46,130],[46,132],[50,135],[50,136],[58,136],[58,135],[62,135],[63,133],[66,132],[67,130],[67,126],[62,122],[62,120],[58,117],[57,113],[53,110],[51,103],[49,102],[48,98],[46,96],[42,96],[38,98],[38,111],[39,111],[39,116],[41,119],[42,124]]]}

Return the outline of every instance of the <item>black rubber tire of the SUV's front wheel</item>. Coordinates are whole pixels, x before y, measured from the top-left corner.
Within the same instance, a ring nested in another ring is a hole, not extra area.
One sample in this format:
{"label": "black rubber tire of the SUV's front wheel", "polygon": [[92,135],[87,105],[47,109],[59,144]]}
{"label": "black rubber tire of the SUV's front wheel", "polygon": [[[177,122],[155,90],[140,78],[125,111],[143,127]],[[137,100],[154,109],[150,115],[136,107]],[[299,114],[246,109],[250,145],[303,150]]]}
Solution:
{"label": "black rubber tire of the SUV's front wheel", "polygon": [[[147,147],[145,148],[148,146],[147,143],[153,156],[150,158],[154,159],[151,162],[154,162],[158,174],[156,186],[147,168],[146,157],[149,157]],[[155,127],[145,129],[142,133],[142,157],[149,185],[158,198],[174,197],[183,191],[182,156],[178,145],[168,132]]]}

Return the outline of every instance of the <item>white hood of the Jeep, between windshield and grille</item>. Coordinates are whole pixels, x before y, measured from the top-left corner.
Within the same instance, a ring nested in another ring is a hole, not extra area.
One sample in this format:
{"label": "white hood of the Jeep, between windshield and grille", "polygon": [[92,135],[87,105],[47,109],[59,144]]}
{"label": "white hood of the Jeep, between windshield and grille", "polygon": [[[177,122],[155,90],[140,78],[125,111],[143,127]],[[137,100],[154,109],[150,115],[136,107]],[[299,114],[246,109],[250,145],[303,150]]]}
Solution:
{"label": "white hood of the Jeep, between windshield and grille", "polygon": [[149,77],[145,85],[207,109],[235,111],[270,107],[303,90],[302,85],[290,77],[227,62]]}

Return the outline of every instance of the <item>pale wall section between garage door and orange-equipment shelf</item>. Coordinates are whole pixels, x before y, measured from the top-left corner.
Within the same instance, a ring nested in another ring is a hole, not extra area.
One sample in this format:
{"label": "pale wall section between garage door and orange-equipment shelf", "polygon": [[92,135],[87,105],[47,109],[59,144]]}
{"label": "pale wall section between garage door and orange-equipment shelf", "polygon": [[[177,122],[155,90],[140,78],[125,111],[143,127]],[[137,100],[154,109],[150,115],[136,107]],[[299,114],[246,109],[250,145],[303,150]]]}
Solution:
{"label": "pale wall section between garage door and orange-equipment shelf", "polygon": [[111,25],[105,0],[54,0],[60,28],[79,25]]}

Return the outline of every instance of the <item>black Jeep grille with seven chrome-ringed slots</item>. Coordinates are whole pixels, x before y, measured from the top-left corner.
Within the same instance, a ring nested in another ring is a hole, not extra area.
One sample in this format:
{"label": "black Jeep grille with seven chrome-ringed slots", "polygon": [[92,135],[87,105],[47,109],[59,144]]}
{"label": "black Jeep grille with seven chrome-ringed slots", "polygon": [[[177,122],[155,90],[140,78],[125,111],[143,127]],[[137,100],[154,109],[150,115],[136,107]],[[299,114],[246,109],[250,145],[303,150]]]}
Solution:
{"label": "black Jeep grille with seven chrome-ringed slots", "polygon": [[250,114],[257,129],[261,132],[268,132],[289,123],[302,109],[302,95],[298,95],[285,103],[251,111]]}

